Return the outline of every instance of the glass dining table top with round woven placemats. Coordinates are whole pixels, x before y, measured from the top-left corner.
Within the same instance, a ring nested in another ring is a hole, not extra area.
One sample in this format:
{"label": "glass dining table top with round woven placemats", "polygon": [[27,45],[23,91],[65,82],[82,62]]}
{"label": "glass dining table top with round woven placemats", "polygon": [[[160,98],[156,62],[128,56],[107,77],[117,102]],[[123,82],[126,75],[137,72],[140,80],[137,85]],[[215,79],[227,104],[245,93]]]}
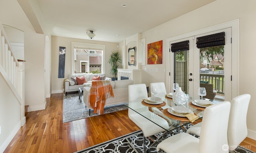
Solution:
{"label": "glass dining table top with round woven placemats", "polygon": [[[167,96],[160,97],[162,99],[162,102],[158,103],[150,103],[148,100],[140,100],[138,102],[128,102],[128,104],[125,104],[129,109],[134,110],[136,113],[140,114],[141,116],[143,115],[143,111],[145,109],[148,109],[150,112],[153,112],[154,114],[164,118],[167,122],[169,127],[164,128],[161,125],[159,125],[157,122],[154,122],[154,116],[144,116],[147,120],[150,120],[151,122],[155,123],[156,125],[160,126],[163,128],[165,131],[164,134],[171,133],[173,131],[176,131],[177,133],[180,132],[180,129],[184,132],[186,132],[186,125],[191,123],[191,120],[189,120],[184,114],[177,114],[172,112],[173,106],[177,106],[174,104],[172,98],[169,98]],[[209,100],[209,99],[206,99]],[[214,100],[209,100],[212,102],[212,104],[215,104]],[[209,106],[209,105],[207,105]],[[195,104],[195,102],[186,102],[186,104],[182,105],[184,108],[189,108],[191,110],[191,114],[193,116],[198,116],[196,120],[201,119],[204,114],[204,109],[207,106],[202,106]]]}

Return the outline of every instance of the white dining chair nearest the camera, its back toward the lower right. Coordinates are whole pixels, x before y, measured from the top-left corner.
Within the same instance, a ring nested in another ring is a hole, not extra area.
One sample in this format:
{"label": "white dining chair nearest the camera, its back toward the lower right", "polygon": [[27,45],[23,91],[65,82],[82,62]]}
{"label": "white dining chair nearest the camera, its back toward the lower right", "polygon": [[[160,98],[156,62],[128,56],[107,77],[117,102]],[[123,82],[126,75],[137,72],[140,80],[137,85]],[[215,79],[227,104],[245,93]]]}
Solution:
{"label": "white dining chair nearest the camera, its back toward the lower right", "polygon": [[159,143],[156,150],[162,149],[166,153],[228,153],[223,146],[228,144],[229,112],[228,101],[209,106],[204,110],[200,139],[188,133],[178,133]]}

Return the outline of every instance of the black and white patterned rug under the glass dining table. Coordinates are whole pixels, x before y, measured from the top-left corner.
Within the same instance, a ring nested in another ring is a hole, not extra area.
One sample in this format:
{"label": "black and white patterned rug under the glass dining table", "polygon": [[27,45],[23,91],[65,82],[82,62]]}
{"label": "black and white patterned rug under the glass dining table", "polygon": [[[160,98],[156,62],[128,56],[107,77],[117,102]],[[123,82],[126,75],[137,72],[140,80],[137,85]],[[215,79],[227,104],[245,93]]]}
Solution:
{"label": "black and white patterned rug under the glass dining table", "polygon": [[[188,125],[188,128],[192,126]],[[183,132],[182,129],[180,132]],[[166,135],[166,137],[170,137],[171,135],[176,134],[177,131],[172,131],[171,134]],[[157,135],[162,135],[163,133],[158,133]],[[195,136],[195,135],[194,135]],[[133,133],[129,133],[127,135],[118,137],[116,139],[112,139],[110,141],[106,141],[104,143],[100,143],[98,145],[94,145],[92,147],[86,148],[81,151],[77,151],[75,153],[142,153],[143,152],[143,135],[142,131],[136,131]],[[146,147],[150,146],[152,141],[146,138]],[[158,153],[156,151],[156,146],[152,146],[147,150],[147,153]],[[231,153],[231,152],[230,152]],[[245,149],[241,146],[238,146],[233,153],[254,153],[248,149]]]}

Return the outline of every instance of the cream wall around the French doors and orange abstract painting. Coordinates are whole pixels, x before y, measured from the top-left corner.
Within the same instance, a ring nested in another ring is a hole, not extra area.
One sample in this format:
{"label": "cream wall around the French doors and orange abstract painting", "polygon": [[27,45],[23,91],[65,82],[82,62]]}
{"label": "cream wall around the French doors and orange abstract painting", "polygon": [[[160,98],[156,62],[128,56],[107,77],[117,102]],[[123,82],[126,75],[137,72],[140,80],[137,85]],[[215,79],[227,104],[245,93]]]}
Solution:
{"label": "cream wall around the French doors and orange abstract painting", "polygon": [[[256,103],[254,102],[256,99],[256,80],[254,78],[256,71],[252,71],[255,67],[252,61],[256,57],[253,42],[256,40],[255,6],[256,0],[217,0],[141,33],[141,38],[146,38],[146,44],[163,40],[163,64],[142,66],[142,70],[147,68],[147,71],[143,71],[142,82],[147,85],[150,82],[166,82],[168,72],[163,72],[163,69],[166,68],[166,39],[240,19],[239,94],[248,93],[252,96],[247,116],[248,137],[256,139],[256,122],[254,118],[256,109]],[[148,71],[150,68],[152,69],[151,72]],[[158,68],[158,73],[154,71],[155,68]]]}

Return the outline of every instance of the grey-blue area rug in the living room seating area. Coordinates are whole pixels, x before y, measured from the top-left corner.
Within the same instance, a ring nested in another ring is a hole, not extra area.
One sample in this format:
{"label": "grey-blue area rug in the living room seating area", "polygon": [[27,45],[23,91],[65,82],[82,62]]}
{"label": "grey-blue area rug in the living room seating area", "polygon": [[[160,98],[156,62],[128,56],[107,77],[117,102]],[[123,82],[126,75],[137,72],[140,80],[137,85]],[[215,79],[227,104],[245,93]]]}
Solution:
{"label": "grey-blue area rug in the living room seating area", "polygon": [[[105,106],[104,114],[126,109],[128,109],[128,107],[124,104]],[[94,114],[93,110],[91,110],[89,116],[89,109],[86,109],[83,97],[82,102],[80,102],[78,94],[68,94],[67,96],[63,96],[63,123],[97,115],[98,114]]]}

